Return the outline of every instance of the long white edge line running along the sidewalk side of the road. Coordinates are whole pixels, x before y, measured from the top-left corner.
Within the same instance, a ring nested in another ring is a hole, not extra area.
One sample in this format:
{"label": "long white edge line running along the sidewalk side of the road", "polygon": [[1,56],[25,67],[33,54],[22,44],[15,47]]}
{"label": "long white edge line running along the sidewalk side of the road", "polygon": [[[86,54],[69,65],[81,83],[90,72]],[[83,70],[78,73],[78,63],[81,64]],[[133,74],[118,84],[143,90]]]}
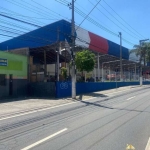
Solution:
{"label": "long white edge line running along the sidewalk side of the road", "polygon": [[[129,89],[127,90],[122,90],[122,91],[118,91],[118,92],[113,92],[113,93],[110,93],[110,94],[105,94],[104,95],[112,95],[114,93],[120,93],[120,92],[123,92],[123,91],[128,91]],[[89,98],[89,99],[85,99],[84,101],[88,101],[88,100],[91,100],[91,99],[95,99],[97,97],[92,97],[92,98]],[[80,101],[77,101],[77,102],[71,102],[71,103],[67,103],[67,104],[62,104],[62,105],[57,105],[57,106],[53,106],[53,107],[48,107],[48,108],[44,108],[44,109],[40,109],[40,110],[33,110],[33,111],[30,111],[30,112],[26,112],[26,113],[22,113],[22,114],[17,114],[17,115],[14,115],[14,116],[8,116],[8,117],[2,117],[0,118],[0,121],[2,120],[6,120],[6,119],[10,119],[10,118],[15,118],[15,117],[20,117],[20,116],[24,116],[24,115],[28,115],[28,114],[32,114],[32,113],[35,113],[35,112],[41,112],[41,111],[45,111],[45,110],[50,110],[50,109],[53,109],[53,108],[58,108],[58,107],[62,107],[62,106],[67,106],[67,105],[71,105],[71,104],[74,104],[74,103],[79,103]]]}

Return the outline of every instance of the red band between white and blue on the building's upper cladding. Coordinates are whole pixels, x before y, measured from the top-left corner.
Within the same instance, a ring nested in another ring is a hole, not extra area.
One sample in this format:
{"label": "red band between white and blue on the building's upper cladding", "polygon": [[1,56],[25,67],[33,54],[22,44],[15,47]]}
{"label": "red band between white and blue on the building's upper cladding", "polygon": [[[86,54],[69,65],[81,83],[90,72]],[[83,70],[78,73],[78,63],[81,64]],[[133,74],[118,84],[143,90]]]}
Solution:
{"label": "red band between white and blue on the building's upper cladding", "polygon": [[108,54],[109,46],[106,39],[91,32],[89,32],[89,36],[91,39],[89,49],[103,54]]}

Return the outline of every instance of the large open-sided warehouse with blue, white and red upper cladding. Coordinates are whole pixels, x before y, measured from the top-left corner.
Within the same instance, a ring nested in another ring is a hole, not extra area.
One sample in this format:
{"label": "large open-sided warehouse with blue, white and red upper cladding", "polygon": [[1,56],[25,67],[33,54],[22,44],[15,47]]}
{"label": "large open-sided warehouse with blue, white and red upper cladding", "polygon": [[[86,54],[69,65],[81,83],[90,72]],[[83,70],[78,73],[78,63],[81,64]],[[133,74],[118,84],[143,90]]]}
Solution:
{"label": "large open-sided warehouse with blue, white and red upper cladding", "polygon": [[[75,27],[75,52],[89,49],[95,53],[96,66],[93,72],[86,77],[93,77],[94,80],[104,81],[111,74],[120,70],[120,45],[107,40],[99,35],[80,27]],[[119,40],[119,39],[118,39]],[[37,83],[31,86],[31,93],[36,88],[36,93],[44,87],[45,95],[55,95],[55,82],[61,80],[60,68],[65,66],[70,77],[69,62],[71,60],[71,23],[60,20],[44,27],[35,29],[26,34],[20,35],[8,41],[0,43],[2,51],[21,54],[27,57],[27,76],[30,83]],[[136,77],[139,64],[131,61],[129,50],[122,47],[123,72],[127,80],[138,80]],[[77,80],[81,73],[77,72]],[[50,82],[46,85],[45,82]],[[42,84],[44,83],[44,84]],[[43,87],[44,86],[44,87]],[[41,93],[42,95],[42,93]]]}

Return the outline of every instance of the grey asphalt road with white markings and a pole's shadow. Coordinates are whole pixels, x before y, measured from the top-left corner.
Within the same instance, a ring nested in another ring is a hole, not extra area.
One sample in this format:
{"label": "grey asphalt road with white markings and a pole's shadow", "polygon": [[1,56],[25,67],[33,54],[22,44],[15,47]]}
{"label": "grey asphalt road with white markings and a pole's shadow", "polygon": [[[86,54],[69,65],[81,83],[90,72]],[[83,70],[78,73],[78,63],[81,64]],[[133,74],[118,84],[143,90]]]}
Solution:
{"label": "grey asphalt road with white markings and a pole's shadow", "polygon": [[149,137],[150,86],[0,118],[0,150],[145,150]]}

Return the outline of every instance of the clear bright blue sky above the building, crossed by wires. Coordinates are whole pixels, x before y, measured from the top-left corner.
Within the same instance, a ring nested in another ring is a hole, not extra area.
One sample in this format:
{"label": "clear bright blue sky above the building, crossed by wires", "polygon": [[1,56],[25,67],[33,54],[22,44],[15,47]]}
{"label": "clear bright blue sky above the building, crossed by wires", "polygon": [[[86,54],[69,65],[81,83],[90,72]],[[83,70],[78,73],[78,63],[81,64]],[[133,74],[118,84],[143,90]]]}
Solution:
{"label": "clear bright blue sky above the building, crossed by wires", "polygon": [[[0,14],[40,26],[45,26],[61,19],[71,21],[71,9],[66,6],[71,3],[71,0],[0,1]],[[82,11],[87,15],[98,2],[99,0],[76,0],[75,24],[79,25],[84,19],[77,12],[80,11],[81,14]],[[81,24],[81,27],[117,44],[120,43],[118,35],[121,32],[122,45],[132,49],[135,44],[139,44],[139,40],[150,38],[149,6],[150,0],[101,0],[89,15],[92,22],[86,19]],[[0,20],[0,42],[36,29],[31,25],[19,23],[3,16],[0,16]],[[7,31],[13,31],[13,33],[6,32],[6,29]],[[14,31],[16,34],[14,34]],[[9,35],[10,37],[4,35]]]}

